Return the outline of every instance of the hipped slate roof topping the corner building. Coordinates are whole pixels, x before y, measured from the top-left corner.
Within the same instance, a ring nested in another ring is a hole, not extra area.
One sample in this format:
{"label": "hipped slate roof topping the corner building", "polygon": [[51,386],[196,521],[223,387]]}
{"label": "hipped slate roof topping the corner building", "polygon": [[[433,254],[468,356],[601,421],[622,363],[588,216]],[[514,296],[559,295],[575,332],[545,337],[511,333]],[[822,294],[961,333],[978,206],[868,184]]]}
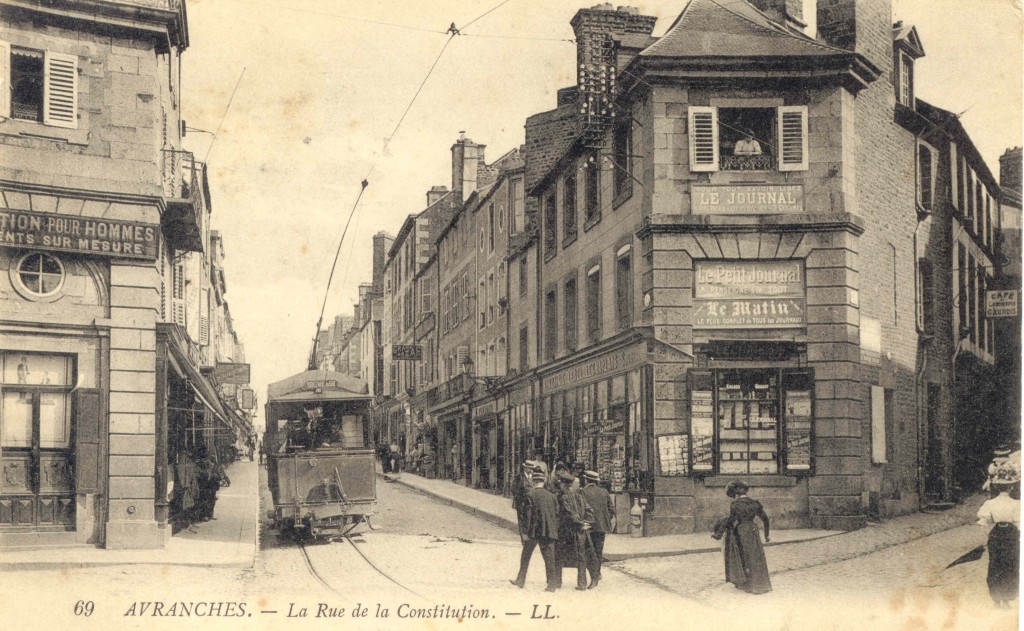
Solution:
{"label": "hipped slate roof topping the corner building", "polygon": [[643,57],[820,57],[849,53],[769,19],[743,0],[690,0]]}

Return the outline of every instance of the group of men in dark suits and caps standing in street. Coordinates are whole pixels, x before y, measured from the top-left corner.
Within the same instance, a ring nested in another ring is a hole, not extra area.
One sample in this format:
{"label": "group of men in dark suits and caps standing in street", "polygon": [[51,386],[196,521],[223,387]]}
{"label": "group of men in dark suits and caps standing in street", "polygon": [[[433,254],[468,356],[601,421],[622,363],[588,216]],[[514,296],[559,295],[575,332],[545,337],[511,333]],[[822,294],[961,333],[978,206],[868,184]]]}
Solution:
{"label": "group of men in dark suits and caps standing in street", "polygon": [[[577,567],[577,589],[597,587],[601,582],[601,561],[605,534],[615,530],[614,504],[599,486],[600,475],[584,471],[586,485],[564,465],[553,474],[543,461],[527,460],[512,487],[512,504],[519,519],[522,554],[516,587],[526,584],[526,572],[534,550],[541,548],[547,577],[545,591],[562,586],[562,567]],[[587,574],[590,573],[590,583]]]}

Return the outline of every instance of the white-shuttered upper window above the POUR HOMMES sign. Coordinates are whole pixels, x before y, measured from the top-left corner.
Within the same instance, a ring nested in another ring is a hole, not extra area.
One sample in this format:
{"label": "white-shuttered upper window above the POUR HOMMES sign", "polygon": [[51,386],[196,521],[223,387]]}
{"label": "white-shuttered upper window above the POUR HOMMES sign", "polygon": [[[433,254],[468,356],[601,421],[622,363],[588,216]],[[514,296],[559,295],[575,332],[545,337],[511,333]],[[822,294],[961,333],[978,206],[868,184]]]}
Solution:
{"label": "white-shuttered upper window above the POUR HOMMES sign", "polygon": [[0,42],[0,115],[78,127],[77,56]]}

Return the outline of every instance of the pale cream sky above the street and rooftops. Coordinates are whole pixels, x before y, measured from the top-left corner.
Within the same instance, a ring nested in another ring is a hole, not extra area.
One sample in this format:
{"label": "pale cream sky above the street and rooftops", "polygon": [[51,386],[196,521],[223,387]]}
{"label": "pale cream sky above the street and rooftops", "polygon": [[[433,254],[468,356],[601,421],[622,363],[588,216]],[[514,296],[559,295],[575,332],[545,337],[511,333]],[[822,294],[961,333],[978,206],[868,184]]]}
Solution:
{"label": "pale cream sky above the street and rooftops", "polygon": [[[568,23],[598,2],[509,0],[447,46],[384,154],[449,25],[466,25],[500,2],[188,0],[183,117],[189,127],[220,125],[220,132],[212,150],[211,134],[189,132],[185,144],[200,159],[210,152],[227,299],[260,402],[268,382],[305,369],[360,180],[370,173],[325,326],[351,314],[358,284],[370,279],[371,237],[397,232],[431,185],[451,185],[450,148],[460,130],[494,160],[522,143],[527,116],[552,109],[555,91],[573,83]],[[658,16],[660,35],[685,0],[631,4]],[[967,111],[964,125],[996,174],[999,155],[1021,144],[1019,4],[894,0],[894,19],[918,27],[927,53],[915,67],[918,96]]]}

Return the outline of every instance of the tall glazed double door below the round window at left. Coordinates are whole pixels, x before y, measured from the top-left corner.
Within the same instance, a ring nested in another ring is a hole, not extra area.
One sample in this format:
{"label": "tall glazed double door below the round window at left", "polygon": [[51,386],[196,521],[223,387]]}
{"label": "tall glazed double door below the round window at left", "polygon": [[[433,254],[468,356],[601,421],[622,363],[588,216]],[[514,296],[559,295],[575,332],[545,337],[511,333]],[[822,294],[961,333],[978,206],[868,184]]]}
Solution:
{"label": "tall glazed double door below the round window at left", "polygon": [[67,355],[5,352],[2,361],[0,528],[72,528],[72,360]]}

